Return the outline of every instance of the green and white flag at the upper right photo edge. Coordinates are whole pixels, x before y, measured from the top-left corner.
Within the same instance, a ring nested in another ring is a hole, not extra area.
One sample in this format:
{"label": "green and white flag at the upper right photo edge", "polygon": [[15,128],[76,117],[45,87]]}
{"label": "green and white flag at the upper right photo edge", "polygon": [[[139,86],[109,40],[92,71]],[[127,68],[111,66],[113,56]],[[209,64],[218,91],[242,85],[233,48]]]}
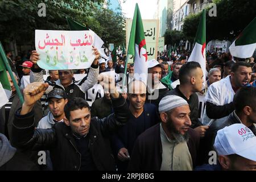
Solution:
{"label": "green and white flag at the upper right photo edge", "polygon": [[253,56],[256,48],[256,18],[245,27],[238,38],[231,44],[229,51],[232,56],[247,58]]}

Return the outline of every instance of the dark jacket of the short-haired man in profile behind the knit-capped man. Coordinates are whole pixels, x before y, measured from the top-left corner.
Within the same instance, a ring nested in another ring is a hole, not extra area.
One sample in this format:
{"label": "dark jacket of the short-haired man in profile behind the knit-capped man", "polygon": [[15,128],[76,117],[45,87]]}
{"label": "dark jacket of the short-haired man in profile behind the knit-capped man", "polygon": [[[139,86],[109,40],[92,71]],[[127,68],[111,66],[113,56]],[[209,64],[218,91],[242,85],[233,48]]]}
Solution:
{"label": "dark jacket of the short-haired man in profile behind the knit-capped man", "polygon": [[188,102],[188,105],[189,105],[189,109],[191,111],[191,115],[190,115],[190,119],[191,119],[191,127],[192,129],[195,129],[196,127],[198,126],[201,126],[202,123],[199,121],[199,101],[198,101],[198,96],[196,93],[193,93],[190,97],[189,97],[189,100],[187,99],[187,97],[185,97],[183,95],[183,93],[180,92],[179,90],[179,86],[180,85],[177,85],[175,89],[171,90],[170,92],[168,92],[166,94],[166,96],[168,95],[176,95],[176,96],[179,96],[181,98],[184,98],[185,101]]}

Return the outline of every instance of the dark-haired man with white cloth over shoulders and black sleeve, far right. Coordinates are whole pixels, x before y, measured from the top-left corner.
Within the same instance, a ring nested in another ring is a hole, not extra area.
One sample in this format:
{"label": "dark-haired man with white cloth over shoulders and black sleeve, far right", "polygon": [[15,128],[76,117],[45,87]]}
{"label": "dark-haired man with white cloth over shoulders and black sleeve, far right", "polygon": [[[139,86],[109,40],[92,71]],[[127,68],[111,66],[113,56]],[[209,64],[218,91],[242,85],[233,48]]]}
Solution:
{"label": "dark-haired man with white cloth over shoulders and black sleeve, far right", "polygon": [[203,124],[224,122],[228,115],[234,111],[234,94],[249,83],[252,73],[251,65],[237,62],[231,68],[230,76],[211,84],[207,90],[204,101],[206,102],[203,115]]}

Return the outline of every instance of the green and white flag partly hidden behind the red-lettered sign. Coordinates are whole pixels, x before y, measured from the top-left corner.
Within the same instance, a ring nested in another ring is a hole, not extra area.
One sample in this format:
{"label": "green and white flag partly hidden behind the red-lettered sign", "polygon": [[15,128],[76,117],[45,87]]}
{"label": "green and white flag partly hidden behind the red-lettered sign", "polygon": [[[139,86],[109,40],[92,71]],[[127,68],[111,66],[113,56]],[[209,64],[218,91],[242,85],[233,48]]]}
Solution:
{"label": "green and white flag partly hidden behind the red-lettered sign", "polygon": [[[74,20],[70,18],[66,18],[68,22],[68,26],[70,30],[90,30],[88,27],[85,27],[81,25],[80,23],[75,22]],[[90,30],[92,31],[92,30]],[[93,32],[93,31],[92,31]],[[103,40],[94,32],[94,41],[93,46],[98,49],[98,52],[100,52],[101,57],[104,57],[105,59],[108,59],[108,56],[106,56],[104,52],[104,48],[102,48],[102,45],[104,44]]]}

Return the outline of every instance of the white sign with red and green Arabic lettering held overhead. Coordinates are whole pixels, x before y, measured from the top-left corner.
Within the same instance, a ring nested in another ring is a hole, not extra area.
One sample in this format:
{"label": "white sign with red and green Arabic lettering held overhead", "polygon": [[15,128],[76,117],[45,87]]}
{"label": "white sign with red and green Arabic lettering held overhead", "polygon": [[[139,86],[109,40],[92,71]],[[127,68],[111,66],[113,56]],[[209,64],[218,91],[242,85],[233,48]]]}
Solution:
{"label": "white sign with red and green Arabic lettering held overhead", "polygon": [[89,68],[95,55],[93,31],[35,30],[35,47],[43,69]]}

